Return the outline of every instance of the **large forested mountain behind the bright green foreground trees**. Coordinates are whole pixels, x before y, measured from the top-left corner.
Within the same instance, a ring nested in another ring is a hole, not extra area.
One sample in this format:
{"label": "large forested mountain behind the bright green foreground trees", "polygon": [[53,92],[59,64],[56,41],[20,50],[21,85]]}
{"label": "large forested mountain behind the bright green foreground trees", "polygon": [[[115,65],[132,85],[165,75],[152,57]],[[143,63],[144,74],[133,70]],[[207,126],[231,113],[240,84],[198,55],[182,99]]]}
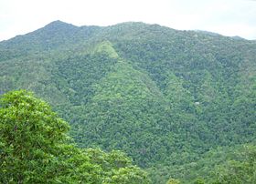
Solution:
{"label": "large forested mountain behind the bright green foreground trees", "polygon": [[0,42],[0,93],[32,90],[69,122],[80,147],[121,149],[152,178],[165,173],[157,182],[189,183],[181,167],[254,144],[255,61],[255,41],[55,21]]}

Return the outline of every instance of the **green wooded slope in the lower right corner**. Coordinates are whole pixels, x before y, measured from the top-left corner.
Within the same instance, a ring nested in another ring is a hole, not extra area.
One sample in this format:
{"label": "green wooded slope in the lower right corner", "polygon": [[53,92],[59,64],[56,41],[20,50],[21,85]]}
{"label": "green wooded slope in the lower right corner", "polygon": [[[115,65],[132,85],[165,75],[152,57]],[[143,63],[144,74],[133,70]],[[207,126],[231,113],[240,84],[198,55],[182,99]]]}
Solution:
{"label": "green wooded slope in the lower right corner", "polygon": [[[153,183],[180,179],[181,183],[255,183],[256,147],[243,145],[215,148],[196,162],[148,169],[154,173]],[[170,176],[169,176],[170,174]]]}

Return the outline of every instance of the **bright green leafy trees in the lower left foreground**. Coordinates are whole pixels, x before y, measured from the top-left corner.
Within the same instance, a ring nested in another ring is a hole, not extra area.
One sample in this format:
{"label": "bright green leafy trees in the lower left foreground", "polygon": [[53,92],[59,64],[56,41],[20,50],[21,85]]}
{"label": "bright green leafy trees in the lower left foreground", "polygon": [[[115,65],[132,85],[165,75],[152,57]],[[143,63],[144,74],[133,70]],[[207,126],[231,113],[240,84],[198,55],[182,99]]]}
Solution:
{"label": "bright green leafy trees in the lower left foreground", "polygon": [[[80,149],[69,125],[24,90],[0,101],[0,183],[149,183],[119,151]],[[128,181],[130,180],[130,181]]]}

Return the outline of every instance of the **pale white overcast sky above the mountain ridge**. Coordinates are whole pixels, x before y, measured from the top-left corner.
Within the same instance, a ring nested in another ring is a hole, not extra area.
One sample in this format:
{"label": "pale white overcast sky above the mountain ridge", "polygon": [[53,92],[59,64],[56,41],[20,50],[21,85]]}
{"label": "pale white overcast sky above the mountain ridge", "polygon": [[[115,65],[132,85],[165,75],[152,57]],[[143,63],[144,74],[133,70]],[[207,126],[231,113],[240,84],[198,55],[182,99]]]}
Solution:
{"label": "pale white overcast sky above the mountain ridge", "polygon": [[55,20],[75,26],[135,21],[256,40],[256,0],[0,0],[0,41]]}

